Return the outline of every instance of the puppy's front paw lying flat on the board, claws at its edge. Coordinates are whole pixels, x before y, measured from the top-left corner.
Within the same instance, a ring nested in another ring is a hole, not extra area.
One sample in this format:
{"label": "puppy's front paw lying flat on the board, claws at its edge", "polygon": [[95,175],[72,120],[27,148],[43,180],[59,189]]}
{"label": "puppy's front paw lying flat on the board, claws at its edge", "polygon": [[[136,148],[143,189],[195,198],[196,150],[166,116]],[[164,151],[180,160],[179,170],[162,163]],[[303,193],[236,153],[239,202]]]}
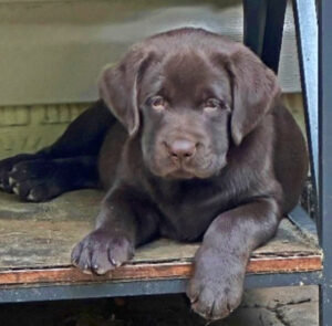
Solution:
{"label": "puppy's front paw lying flat on the board, claws at its edge", "polygon": [[134,255],[132,242],[123,234],[97,229],[72,251],[72,263],[83,273],[105,274]]}

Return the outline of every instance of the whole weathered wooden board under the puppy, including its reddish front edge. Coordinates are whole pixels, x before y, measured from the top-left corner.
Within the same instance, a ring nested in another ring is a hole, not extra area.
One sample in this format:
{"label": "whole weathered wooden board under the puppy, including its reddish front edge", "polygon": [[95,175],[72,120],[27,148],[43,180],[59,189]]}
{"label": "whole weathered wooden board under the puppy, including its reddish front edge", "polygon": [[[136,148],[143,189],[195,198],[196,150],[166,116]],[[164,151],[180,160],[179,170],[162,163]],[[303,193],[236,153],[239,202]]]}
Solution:
{"label": "whole weathered wooden board under the puppy, including its reddish front edge", "polygon": [[[92,230],[101,192],[81,190],[46,203],[24,203],[0,193],[0,287],[188,277],[198,243],[166,239],[136,251],[133,261],[105,276],[81,273],[70,263],[74,244]],[[284,219],[274,239],[256,250],[248,273],[319,271],[314,239]]]}

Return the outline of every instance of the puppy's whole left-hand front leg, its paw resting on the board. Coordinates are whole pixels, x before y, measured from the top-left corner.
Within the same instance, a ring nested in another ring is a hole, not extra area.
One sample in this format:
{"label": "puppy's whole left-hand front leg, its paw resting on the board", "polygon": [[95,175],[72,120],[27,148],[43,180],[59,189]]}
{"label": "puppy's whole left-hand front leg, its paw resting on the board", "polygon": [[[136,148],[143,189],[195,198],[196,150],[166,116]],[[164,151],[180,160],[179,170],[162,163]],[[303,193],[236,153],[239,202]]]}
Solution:
{"label": "puppy's whole left-hand front leg, its paw resting on the board", "polygon": [[142,194],[127,187],[111,190],[96,229],[73,250],[72,263],[84,273],[105,274],[134,255],[134,248],[157,236],[158,213]]}

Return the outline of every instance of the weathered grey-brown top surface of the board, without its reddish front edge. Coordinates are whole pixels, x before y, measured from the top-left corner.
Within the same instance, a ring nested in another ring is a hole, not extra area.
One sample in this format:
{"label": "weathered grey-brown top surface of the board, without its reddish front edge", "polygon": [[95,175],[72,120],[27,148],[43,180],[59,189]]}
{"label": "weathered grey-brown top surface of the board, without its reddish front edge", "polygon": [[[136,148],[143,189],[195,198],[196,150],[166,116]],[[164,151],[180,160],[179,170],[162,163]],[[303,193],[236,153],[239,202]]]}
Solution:
{"label": "weathered grey-brown top surface of the board, without its reddish front edge", "polygon": [[[63,267],[77,241],[93,229],[103,193],[73,191],[45,203],[25,203],[0,193],[0,271]],[[139,248],[134,264],[190,261],[199,243],[160,239]],[[253,259],[319,256],[315,240],[308,240],[284,219]]]}

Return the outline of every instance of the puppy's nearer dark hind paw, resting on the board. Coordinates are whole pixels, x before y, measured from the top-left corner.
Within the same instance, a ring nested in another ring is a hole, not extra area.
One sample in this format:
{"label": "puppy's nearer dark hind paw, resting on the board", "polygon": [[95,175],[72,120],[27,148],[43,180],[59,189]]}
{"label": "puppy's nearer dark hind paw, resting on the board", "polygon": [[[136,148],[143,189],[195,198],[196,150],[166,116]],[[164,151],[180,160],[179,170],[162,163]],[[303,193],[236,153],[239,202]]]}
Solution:
{"label": "puppy's nearer dark hind paw, resting on the board", "polygon": [[58,165],[48,159],[18,162],[8,173],[9,187],[23,200],[49,200],[63,192],[58,185]]}

